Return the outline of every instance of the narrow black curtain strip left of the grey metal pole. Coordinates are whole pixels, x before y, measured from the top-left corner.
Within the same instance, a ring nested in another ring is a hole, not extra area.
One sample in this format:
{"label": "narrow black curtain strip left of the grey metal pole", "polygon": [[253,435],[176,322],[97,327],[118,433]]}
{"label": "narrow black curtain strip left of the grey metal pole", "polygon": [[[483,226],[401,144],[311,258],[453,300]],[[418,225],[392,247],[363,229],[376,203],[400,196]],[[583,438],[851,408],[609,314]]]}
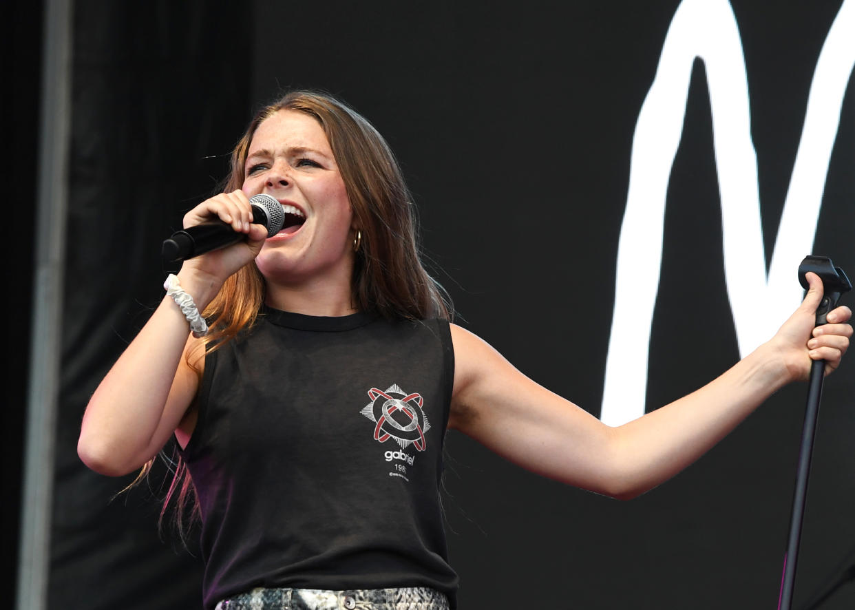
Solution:
{"label": "narrow black curtain strip left of the grey metal pole", "polygon": [[[0,126],[6,145],[3,182],[9,210],[26,218],[17,227],[3,229],[3,270],[9,301],[5,326],[9,347],[3,362],[6,386],[0,409],[0,443],[3,446],[2,488],[9,494],[0,531],[0,566],[15,591],[18,577],[19,523],[25,422],[27,420],[27,369],[30,360],[32,316],[32,261],[36,223],[38,166],[38,104],[41,86],[42,4],[12,2],[4,6],[7,27],[0,39],[0,74],[6,93],[0,96]],[[14,25],[14,27],[12,27]],[[9,94],[9,91],[12,93]]]}

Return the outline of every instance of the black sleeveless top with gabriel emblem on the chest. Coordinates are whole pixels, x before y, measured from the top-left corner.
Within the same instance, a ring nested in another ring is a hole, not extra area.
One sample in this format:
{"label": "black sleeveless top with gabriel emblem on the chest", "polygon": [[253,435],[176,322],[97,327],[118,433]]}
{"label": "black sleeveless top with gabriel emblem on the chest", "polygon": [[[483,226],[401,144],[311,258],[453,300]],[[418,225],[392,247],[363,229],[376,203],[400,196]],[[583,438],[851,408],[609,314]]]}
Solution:
{"label": "black sleeveless top with gabriel emblem on the chest", "polygon": [[453,607],[439,505],[453,375],[440,320],[265,308],[209,353],[182,452],[204,606],[255,587],[425,586]]}

